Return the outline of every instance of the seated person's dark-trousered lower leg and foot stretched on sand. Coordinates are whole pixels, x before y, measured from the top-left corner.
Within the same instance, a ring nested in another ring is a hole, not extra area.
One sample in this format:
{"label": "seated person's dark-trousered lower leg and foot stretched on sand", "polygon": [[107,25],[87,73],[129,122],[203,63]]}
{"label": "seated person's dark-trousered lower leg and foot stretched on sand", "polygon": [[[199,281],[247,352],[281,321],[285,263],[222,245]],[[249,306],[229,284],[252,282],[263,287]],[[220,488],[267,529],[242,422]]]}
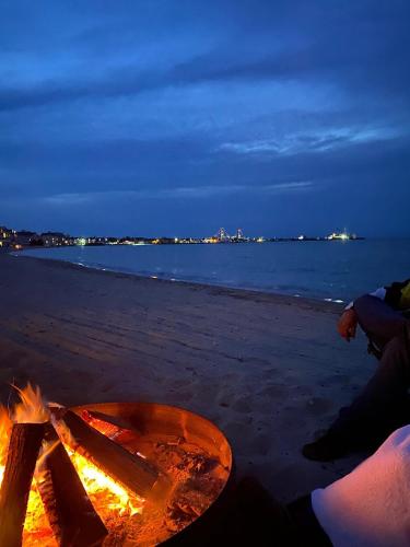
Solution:
{"label": "seated person's dark-trousered lower leg and foot stretched on sand", "polygon": [[380,363],[353,403],[340,410],[328,432],[306,444],[303,454],[309,459],[333,459],[352,450],[370,447],[383,441],[409,419],[410,385],[409,330],[386,346]]}

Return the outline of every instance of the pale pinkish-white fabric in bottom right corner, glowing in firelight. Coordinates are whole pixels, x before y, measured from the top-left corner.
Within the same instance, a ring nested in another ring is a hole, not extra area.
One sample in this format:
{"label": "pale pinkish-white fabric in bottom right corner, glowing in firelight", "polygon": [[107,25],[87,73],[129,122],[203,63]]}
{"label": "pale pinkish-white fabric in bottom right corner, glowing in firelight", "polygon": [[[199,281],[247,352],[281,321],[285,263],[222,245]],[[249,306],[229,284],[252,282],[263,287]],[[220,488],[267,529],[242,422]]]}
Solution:
{"label": "pale pinkish-white fabric in bottom right corner, glowing in firelight", "polygon": [[312,505],[335,547],[409,547],[410,426],[352,473],[312,492]]}

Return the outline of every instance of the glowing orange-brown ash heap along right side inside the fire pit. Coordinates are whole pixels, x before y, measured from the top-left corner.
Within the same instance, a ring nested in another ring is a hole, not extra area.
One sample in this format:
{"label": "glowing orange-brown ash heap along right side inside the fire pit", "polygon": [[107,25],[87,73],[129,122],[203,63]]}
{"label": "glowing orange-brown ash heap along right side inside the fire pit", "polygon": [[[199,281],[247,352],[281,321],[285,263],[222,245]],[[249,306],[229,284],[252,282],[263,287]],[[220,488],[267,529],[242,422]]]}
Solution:
{"label": "glowing orange-brown ash heap along right side inside the fire pit", "polygon": [[[119,440],[119,439],[118,439]],[[229,469],[202,447],[173,435],[136,437],[121,443],[143,454],[165,473],[173,489],[163,505],[147,502],[142,514],[105,520],[110,531],[104,547],[157,545],[198,519],[221,493]]]}

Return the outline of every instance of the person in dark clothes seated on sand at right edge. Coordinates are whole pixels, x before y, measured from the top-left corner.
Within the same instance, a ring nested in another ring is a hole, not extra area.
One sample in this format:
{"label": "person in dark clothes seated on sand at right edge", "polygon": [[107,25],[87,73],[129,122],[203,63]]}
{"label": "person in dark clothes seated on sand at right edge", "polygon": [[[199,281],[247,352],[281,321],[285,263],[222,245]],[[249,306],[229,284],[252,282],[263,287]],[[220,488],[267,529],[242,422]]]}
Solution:
{"label": "person in dark clothes seated on sand at right edge", "polygon": [[410,279],[359,298],[344,310],[338,325],[348,341],[358,324],[370,339],[379,365],[353,403],[317,441],[306,444],[309,459],[329,461],[355,450],[377,446],[410,422]]}

